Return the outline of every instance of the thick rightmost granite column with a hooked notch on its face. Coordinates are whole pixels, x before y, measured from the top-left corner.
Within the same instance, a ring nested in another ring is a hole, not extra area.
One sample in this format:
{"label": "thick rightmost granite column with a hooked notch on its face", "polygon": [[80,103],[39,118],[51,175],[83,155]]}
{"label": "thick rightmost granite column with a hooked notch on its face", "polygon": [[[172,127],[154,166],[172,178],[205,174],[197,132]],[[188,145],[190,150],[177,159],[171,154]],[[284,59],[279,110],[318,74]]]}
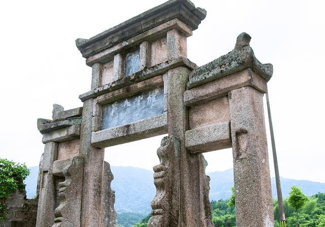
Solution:
{"label": "thick rightmost granite column with a hooked notch on its face", "polygon": [[274,226],[263,94],[229,92],[237,227]]}

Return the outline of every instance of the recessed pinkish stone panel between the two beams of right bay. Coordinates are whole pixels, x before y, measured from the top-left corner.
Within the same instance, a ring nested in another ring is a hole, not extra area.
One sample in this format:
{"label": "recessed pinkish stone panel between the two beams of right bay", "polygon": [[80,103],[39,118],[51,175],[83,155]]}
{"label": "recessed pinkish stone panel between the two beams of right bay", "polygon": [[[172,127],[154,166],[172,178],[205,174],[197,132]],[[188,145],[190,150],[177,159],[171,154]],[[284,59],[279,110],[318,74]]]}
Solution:
{"label": "recessed pinkish stone panel between the two beams of right bay", "polygon": [[190,129],[230,121],[228,96],[190,107],[188,119]]}

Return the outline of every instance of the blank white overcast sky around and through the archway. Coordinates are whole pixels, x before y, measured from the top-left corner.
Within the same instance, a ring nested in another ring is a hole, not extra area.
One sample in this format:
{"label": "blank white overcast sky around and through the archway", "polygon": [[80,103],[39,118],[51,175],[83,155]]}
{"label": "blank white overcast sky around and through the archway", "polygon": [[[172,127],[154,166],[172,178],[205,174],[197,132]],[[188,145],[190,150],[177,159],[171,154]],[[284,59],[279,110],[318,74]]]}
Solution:
{"label": "blank white overcast sky around and through the archway", "polygon": [[[82,106],[91,68],[75,40],[90,38],[165,1],[4,1],[0,5],[0,157],[37,166],[43,152],[37,118],[52,105]],[[193,0],[207,10],[187,40],[188,58],[202,66],[231,51],[245,31],[268,83],[280,175],[325,182],[324,7],[321,1]],[[113,166],[152,170],[159,138],[107,148]],[[271,143],[270,168],[273,169]],[[232,151],[206,155],[207,172],[232,168]]]}

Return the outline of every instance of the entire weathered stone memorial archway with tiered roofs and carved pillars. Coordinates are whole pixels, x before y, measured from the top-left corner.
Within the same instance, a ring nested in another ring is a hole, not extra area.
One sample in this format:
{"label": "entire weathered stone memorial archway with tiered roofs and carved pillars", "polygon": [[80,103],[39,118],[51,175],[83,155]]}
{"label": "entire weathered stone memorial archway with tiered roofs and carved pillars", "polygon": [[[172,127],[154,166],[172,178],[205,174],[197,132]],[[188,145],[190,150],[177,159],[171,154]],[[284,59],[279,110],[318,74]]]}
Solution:
{"label": "entire weathered stone memorial archway with tiered roofs and carved pillars", "polygon": [[262,100],[272,65],[243,33],[234,50],[197,67],[186,38],[205,16],[188,0],[169,1],[76,40],[91,90],[79,96],[83,107],[54,105],[53,120],[38,119],[37,226],[115,226],[104,148],[162,134],[148,226],[213,226],[202,153],[230,147],[237,226],[274,225]]}

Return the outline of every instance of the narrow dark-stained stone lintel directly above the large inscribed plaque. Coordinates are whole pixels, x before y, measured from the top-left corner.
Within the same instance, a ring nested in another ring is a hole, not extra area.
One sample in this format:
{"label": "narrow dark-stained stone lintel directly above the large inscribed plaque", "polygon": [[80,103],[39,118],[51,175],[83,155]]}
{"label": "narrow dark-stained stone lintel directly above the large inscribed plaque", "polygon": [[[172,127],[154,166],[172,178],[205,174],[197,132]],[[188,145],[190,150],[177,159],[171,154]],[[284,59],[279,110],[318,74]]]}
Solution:
{"label": "narrow dark-stained stone lintel directly above the large inscribed plaque", "polygon": [[159,86],[164,86],[163,75],[102,94],[96,98],[96,103],[104,105]]}

